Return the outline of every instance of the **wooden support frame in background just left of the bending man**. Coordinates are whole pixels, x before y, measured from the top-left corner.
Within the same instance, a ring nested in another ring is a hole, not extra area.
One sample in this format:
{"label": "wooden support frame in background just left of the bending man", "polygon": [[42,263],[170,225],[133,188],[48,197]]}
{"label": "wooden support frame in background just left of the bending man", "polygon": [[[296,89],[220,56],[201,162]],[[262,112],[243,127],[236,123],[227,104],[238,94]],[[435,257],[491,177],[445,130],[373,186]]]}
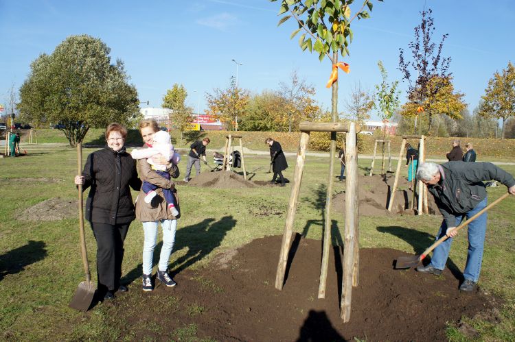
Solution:
{"label": "wooden support frame in background just left of the bending man", "polygon": [[[399,160],[397,162],[397,169],[396,169],[396,178],[393,181],[393,186],[391,187],[391,195],[390,195],[390,201],[388,203],[388,211],[391,211],[391,208],[393,208],[393,199],[395,199],[396,191],[397,191],[397,184],[399,181],[400,176],[400,165],[402,164],[402,158],[404,155],[404,148],[406,147],[406,143],[408,139],[418,139],[419,146],[418,146],[418,163],[422,164],[426,160],[426,152],[424,147],[424,139],[425,137],[423,135],[411,135],[411,136],[402,136],[402,143],[400,145],[400,151],[399,151]],[[419,189],[418,191],[418,202],[417,202],[417,215],[422,215],[422,212],[425,211],[428,213],[428,204],[427,204],[427,188],[424,183],[422,183],[421,180],[417,181],[417,187]],[[415,192],[415,188],[413,188],[413,193]],[[425,198],[424,198],[425,193]],[[425,202],[425,203],[424,203]],[[411,206],[413,206],[413,201]]]}

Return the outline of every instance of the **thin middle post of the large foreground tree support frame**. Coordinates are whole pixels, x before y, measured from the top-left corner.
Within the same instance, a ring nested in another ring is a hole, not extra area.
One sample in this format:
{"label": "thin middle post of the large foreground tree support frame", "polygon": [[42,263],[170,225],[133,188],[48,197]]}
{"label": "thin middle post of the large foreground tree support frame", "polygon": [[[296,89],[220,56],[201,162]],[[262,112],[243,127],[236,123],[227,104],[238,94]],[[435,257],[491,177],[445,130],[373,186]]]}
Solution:
{"label": "thin middle post of the large foreground tree support frame", "polygon": [[329,250],[331,249],[331,197],[334,175],[334,152],[336,151],[336,132],[331,132],[331,145],[329,149],[329,182],[325,195],[325,219],[323,231],[322,265],[320,269],[319,298],[325,298],[325,283],[328,278]]}

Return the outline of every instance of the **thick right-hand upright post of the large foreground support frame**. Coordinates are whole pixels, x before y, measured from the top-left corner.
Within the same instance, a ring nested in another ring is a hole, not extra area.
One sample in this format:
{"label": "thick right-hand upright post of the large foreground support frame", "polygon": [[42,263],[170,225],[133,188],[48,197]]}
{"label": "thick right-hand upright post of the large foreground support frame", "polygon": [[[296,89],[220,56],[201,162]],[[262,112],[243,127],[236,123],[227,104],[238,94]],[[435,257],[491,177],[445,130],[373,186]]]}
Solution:
{"label": "thick right-hand upright post of the large foreground support frame", "polygon": [[359,265],[355,264],[358,259],[358,249],[355,249],[356,232],[358,230],[358,154],[356,149],[356,126],[350,124],[350,130],[347,133],[347,143],[345,145],[347,154],[345,161],[347,162],[347,178],[345,179],[345,247],[343,250],[343,280],[342,280],[342,298],[340,316],[344,322],[350,320],[351,301],[352,301],[352,285],[357,284],[357,270]]}

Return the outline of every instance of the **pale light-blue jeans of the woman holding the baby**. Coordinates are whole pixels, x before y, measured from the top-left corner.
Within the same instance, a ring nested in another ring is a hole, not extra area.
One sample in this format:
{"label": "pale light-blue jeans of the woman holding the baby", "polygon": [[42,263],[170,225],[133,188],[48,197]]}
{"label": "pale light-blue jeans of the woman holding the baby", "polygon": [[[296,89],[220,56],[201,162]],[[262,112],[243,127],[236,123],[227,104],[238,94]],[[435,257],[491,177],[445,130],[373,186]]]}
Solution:
{"label": "pale light-blue jeans of the woman holding the baby", "polygon": [[152,274],[152,259],[154,258],[154,248],[157,242],[157,225],[161,222],[163,230],[163,247],[159,256],[159,271],[168,270],[168,261],[175,242],[175,230],[177,220],[159,220],[155,222],[142,222],[145,241],[143,243],[143,274]]}

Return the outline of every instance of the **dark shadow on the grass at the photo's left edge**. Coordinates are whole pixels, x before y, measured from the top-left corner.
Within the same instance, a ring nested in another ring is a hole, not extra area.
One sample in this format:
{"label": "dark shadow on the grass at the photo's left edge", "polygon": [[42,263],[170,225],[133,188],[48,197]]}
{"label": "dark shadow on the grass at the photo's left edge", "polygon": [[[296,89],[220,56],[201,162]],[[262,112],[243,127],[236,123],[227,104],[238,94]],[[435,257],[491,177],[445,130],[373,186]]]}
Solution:
{"label": "dark shadow on the grass at the photo's left edge", "polygon": [[43,241],[30,240],[27,245],[10,250],[0,255],[0,280],[8,274],[23,271],[25,266],[43,260],[47,256]]}

